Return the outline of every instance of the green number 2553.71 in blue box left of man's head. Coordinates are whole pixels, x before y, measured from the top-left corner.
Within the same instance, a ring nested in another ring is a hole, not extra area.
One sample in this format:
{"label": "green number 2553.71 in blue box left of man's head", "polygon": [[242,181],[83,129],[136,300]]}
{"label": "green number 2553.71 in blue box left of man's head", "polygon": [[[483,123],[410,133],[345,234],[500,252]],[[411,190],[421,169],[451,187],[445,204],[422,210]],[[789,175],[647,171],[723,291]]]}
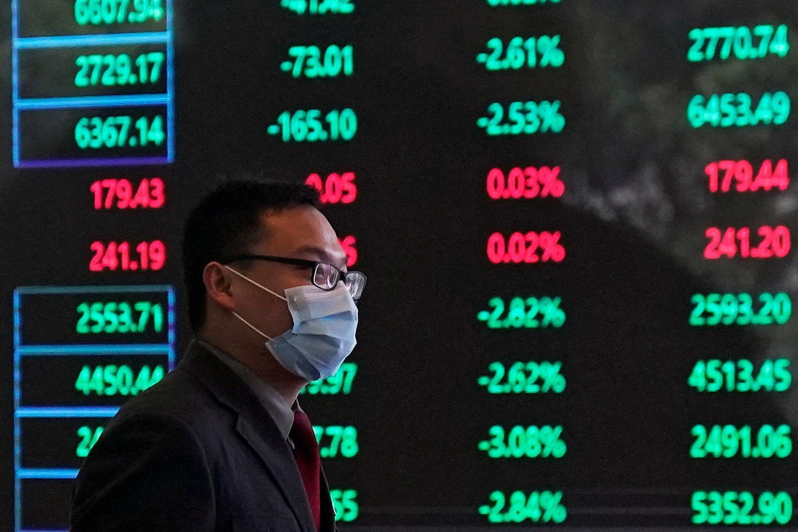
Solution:
{"label": "green number 2553.71 in blue box left of man's head", "polygon": [[164,308],[151,301],[81,303],[77,305],[77,313],[80,317],[75,331],[81,335],[140,333],[148,328],[156,333],[164,330]]}

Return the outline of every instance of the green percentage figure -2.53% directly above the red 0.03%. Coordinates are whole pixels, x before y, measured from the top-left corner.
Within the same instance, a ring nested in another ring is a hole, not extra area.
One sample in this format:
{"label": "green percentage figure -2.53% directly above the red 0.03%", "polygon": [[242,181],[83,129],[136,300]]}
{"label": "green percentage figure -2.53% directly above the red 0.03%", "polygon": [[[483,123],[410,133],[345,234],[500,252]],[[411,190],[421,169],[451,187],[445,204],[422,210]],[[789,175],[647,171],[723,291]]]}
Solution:
{"label": "green percentage figure -2.53% directly above the red 0.03%", "polygon": [[494,102],[488,105],[488,117],[480,117],[477,127],[490,136],[534,135],[535,133],[561,133],[565,117],[559,112],[560,101],[513,101],[507,106]]}

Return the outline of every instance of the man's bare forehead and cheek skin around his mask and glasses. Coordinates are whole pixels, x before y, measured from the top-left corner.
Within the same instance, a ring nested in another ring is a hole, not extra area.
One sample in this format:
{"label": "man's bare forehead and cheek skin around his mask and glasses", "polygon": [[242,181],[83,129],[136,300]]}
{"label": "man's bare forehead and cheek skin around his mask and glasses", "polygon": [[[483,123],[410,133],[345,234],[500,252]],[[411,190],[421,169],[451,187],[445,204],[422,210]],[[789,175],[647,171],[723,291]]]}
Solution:
{"label": "man's bare forehead and cheek skin around his mask and glasses", "polygon": [[[262,214],[263,238],[247,253],[281,256],[291,259],[322,260],[346,271],[346,255],[338,236],[326,217],[310,205],[286,208]],[[286,288],[312,284],[312,268],[279,264],[265,260],[236,266],[245,276],[283,295]],[[274,338],[294,326],[285,301],[261,290],[247,280],[227,272],[236,312],[260,331]]]}

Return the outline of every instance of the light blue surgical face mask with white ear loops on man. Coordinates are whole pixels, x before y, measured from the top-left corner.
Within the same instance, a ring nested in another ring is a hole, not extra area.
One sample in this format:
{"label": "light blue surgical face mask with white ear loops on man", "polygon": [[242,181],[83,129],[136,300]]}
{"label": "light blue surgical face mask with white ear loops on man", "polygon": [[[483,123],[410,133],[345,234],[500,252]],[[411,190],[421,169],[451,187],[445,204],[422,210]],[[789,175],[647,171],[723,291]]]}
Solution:
{"label": "light blue surgical face mask with white ear loops on man", "polygon": [[266,347],[282,367],[309,381],[326,379],[338,371],[358,343],[354,337],[358,328],[358,307],[342,282],[330,291],[312,284],[286,288],[283,297],[233,268],[225,268],[288,304],[294,327],[275,338],[233,312],[236,318],[268,340]]}

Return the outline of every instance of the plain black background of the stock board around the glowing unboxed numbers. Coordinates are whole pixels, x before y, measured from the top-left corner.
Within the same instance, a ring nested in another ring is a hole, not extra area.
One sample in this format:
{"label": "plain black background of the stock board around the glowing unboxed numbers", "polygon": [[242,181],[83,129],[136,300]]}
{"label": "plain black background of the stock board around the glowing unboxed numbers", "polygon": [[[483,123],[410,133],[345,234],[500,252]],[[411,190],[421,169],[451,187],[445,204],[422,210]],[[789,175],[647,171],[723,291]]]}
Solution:
{"label": "plain black background of the stock board around the glowing unboxed numbers", "polygon": [[[746,91],[756,101],[784,90],[798,101],[794,51],[757,62],[685,59],[693,27],[794,29],[794,2],[356,4],[353,16],[298,17],[276,0],[177,0],[177,159],[168,169],[17,171],[10,133],[0,135],[0,153],[8,154],[0,176],[0,324],[8,332],[0,335],[0,412],[7,413],[0,415],[0,509],[13,507],[13,289],[174,284],[182,351],[180,228],[220,174],[243,170],[295,181],[357,173],[358,200],[325,212],[339,236],[357,237],[357,268],[369,275],[351,358],[358,376],[351,395],[304,396],[302,404],[315,424],[358,427],[357,457],[328,461],[326,471],[333,487],[358,489],[361,530],[476,525],[484,522],[476,509],[495,489],[563,489],[569,522],[588,529],[687,526],[689,494],[708,487],[784,489],[795,498],[795,455],[695,461],[687,454],[695,423],[795,423],[794,395],[709,396],[686,385],[697,359],[796,355],[795,320],[784,328],[687,325],[697,292],[798,295],[794,253],[760,261],[701,256],[704,231],[714,224],[794,228],[794,185],[786,193],[713,197],[703,169],[719,159],[794,157],[795,119],[699,130],[685,119],[696,93]],[[8,7],[0,10],[10,20]],[[488,38],[535,34],[562,35],[562,69],[488,73],[474,61]],[[350,78],[294,80],[279,69],[288,46],[350,43]],[[3,81],[10,94],[10,77]],[[562,134],[488,138],[475,126],[493,101],[546,99],[563,102]],[[4,101],[0,132],[10,132],[10,97]],[[358,113],[350,143],[285,145],[266,133],[286,109],[344,107]],[[489,200],[488,171],[516,165],[561,165],[563,200]],[[93,181],[155,176],[167,185],[164,209],[93,211]],[[496,266],[484,256],[492,232],[551,229],[563,232],[563,264]],[[82,242],[114,234],[147,240],[152,231],[168,249],[163,271],[89,272]],[[491,332],[476,321],[493,296],[547,295],[563,297],[563,329]],[[490,396],[476,386],[488,363],[516,359],[563,360],[567,391]],[[501,461],[476,450],[488,427],[516,423],[562,423],[566,458]],[[587,513],[607,506],[683,514]],[[10,528],[4,511],[0,527]]]}

